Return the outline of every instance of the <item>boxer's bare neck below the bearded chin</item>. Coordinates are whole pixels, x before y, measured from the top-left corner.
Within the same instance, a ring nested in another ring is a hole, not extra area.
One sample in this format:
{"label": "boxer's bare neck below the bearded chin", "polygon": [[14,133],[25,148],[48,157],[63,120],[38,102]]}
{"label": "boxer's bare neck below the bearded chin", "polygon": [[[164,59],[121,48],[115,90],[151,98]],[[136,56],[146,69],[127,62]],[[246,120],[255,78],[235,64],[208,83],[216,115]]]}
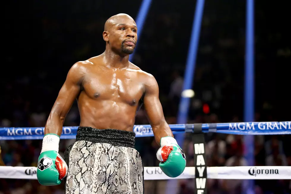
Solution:
{"label": "boxer's bare neck below the bearded chin", "polygon": [[129,66],[129,55],[124,56],[115,53],[111,49],[107,49],[104,52],[104,63],[107,67],[112,68],[125,68]]}

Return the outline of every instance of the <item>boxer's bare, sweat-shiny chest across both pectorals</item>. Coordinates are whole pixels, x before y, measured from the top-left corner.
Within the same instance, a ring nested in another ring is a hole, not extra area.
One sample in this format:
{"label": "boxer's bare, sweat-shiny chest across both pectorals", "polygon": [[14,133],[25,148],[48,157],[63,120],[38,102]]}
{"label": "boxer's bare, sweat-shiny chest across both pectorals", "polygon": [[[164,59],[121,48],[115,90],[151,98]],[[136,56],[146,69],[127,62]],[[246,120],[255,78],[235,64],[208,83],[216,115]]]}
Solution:
{"label": "boxer's bare, sweat-shiny chest across both pectorals", "polygon": [[135,105],[143,96],[143,83],[134,72],[104,71],[87,74],[83,89],[96,100],[112,100]]}

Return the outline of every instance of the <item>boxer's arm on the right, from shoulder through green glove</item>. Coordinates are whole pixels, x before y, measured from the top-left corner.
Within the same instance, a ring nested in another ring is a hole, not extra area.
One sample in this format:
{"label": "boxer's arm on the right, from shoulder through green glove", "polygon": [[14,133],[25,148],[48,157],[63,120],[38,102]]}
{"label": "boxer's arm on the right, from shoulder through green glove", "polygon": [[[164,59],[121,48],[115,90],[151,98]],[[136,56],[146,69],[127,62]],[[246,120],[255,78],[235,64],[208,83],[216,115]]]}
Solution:
{"label": "boxer's arm on the right, from shoulder through green glove", "polygon": [[152,75],[145,83],[143,103],[155,140],[161,146],[156,153],[158,160],[161,161],[159,167],[167,176],[177,177],[185,169],[186,157],[165,120],[159,101],[159,87]]}

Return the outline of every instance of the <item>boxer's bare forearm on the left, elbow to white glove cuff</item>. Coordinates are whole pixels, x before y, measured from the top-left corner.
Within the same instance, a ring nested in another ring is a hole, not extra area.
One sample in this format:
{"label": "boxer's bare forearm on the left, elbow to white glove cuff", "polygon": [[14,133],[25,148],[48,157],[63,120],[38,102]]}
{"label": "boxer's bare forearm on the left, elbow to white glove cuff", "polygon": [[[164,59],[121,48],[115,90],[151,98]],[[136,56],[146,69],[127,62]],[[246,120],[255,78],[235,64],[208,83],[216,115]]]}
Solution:
{"label": "boxer's bare forearm on the left, elbow to white glove cuff", "polygon": [[53,133],[61,136],[63,131],[64,117],[56,112],[51,112],[45,124],[45,134]]}

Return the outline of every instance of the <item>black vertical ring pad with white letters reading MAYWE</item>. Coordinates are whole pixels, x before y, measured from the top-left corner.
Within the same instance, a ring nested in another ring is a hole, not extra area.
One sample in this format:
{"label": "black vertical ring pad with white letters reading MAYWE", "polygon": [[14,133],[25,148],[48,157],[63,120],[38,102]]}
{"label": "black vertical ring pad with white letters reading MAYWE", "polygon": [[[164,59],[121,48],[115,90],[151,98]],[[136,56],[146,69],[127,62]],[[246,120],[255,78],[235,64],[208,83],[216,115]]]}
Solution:
{"label": "black vertical ring pad with white letters reading MAYWE", "polygon": [[194,149],[194,194],[207,194],[207,163],[205,154],[205,138],[202,132],[202,124],[194,124],[192,134],[193,149]]}

